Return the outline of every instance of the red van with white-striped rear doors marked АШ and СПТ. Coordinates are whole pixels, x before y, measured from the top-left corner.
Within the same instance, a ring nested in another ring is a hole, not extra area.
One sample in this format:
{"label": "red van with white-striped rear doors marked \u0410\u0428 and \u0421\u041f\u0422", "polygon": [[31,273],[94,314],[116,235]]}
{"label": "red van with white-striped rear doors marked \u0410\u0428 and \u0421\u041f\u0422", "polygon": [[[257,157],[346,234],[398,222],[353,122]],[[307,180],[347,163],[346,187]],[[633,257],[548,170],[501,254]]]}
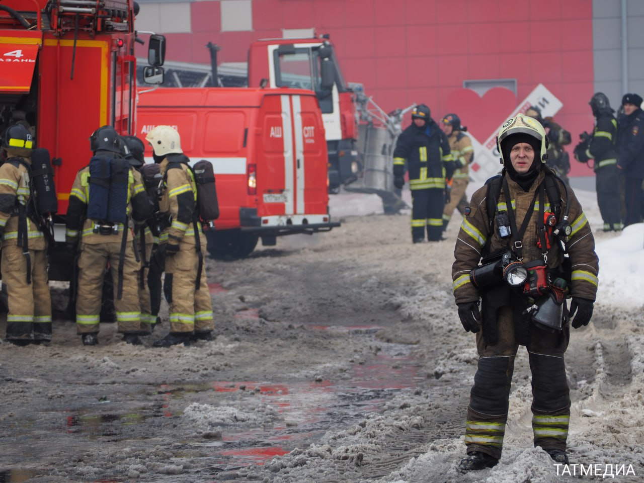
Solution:
{"label": "red van with white-striped rear doors marked \u0410\u0428 and \u0421\u041f\u0422", "polygon": [[[165,88],[141,91],[137,135],[173,126],[192,162],[213,164],[220,218],[206,231],[218,258],[250,254],[261,238],[329,231],[327,144],[311,91]],[[152,160],[147,147],[146,156]]]}

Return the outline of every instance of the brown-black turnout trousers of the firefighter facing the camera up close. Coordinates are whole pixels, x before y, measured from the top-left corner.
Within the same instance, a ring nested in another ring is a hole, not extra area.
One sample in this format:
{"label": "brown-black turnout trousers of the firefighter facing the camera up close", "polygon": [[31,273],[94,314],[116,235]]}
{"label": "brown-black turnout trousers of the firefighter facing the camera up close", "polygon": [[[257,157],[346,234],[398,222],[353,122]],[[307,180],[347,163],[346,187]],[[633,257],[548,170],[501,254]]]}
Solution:
{"label": "brown-black turnout trousers of the firefighter facing the camera up close", "polygon": [[[511,310],[502,307],[497,318],[498,343],[486,345],[477,334],[478,368],[470,393],[465,430],[468,453],[480,451],[499,459],[506,430],[508,399],[518,343]],[[564,450],[570,420],[570,396],[564,352],[569,329],[552,333],[531,324],[526,347],[532,373],[532,428],[535,446]]]}

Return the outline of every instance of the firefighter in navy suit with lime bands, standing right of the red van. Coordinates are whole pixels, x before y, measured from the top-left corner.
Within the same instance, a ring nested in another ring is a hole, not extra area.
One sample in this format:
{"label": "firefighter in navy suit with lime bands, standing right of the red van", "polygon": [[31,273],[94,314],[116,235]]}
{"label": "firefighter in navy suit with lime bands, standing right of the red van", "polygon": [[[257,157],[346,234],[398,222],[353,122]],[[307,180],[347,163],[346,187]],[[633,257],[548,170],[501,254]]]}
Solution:
{"label": "firefighter in navy suit with lime bands, standing right of the red van", "polygon": [[430,108],[413,108],[412,125],[401,133],[393,151],[393,185],[402,188],[409,171],[412,191],[412,241],[423,242],[425,229],[430,242],[442,240],[442,214],[446,178],[454,172],[450,143],[430,117]]}

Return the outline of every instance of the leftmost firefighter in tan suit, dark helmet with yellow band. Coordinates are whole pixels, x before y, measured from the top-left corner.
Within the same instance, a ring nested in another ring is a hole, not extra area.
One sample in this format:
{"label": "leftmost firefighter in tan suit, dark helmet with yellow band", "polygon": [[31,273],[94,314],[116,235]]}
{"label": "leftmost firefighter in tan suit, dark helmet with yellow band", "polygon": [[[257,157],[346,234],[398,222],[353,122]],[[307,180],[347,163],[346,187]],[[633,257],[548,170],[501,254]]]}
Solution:
{"label": "leftmost firefighter in tan suit, dark helmet with yellow band", "polygon": [[2,282],[8,294],[6,340],[15,345],[52,340],[52,299],[47,278],[47,242],[34,222],[30,171],[32,134],[21,124],[3,136],[0,166]]}

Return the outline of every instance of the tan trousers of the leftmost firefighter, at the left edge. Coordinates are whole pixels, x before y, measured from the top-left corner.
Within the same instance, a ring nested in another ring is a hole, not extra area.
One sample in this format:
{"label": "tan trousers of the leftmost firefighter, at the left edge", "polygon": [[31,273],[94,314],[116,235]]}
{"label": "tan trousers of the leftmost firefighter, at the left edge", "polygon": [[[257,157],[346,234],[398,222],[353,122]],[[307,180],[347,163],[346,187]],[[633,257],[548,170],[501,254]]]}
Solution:
{"label": "tan trousers of the leftmost firefighter, at the left edge", "polygon": [[52,298],[45,250],[30,250],[31,283],[27,283],[27,258],[17,245],[2,247],[2,278],[9,311],[7,340],[52,340]]}

